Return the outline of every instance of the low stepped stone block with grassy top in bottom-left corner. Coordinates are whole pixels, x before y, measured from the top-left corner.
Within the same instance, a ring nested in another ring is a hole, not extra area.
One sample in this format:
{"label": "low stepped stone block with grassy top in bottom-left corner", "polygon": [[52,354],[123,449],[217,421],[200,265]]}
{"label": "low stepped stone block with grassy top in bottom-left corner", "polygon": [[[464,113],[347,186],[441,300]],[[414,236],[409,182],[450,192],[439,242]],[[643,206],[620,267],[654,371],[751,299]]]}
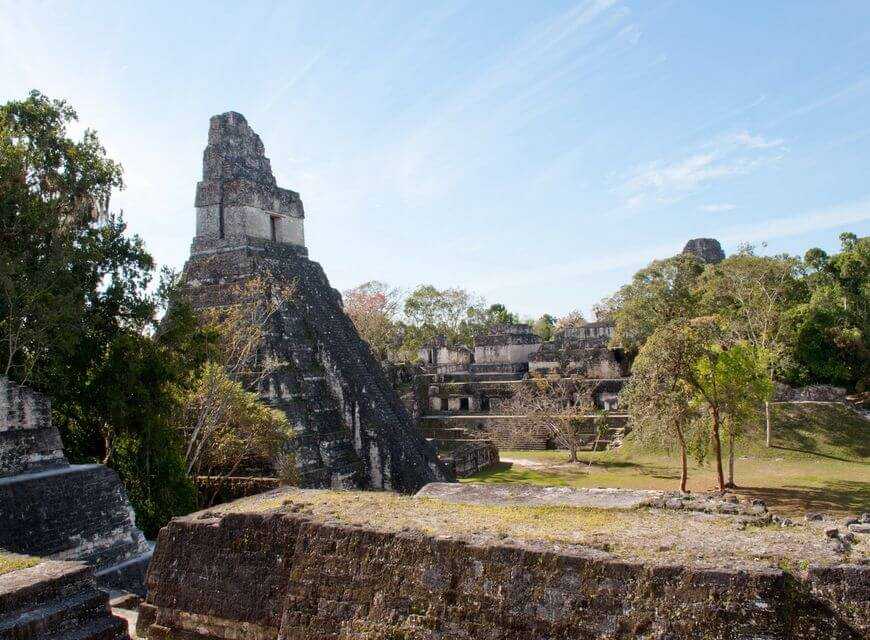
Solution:
{"label": "low stepped stone block with grassy top in bottom-left corner", "polygon": [[0,576],[0,638],[129,640],[109,610],[93,570],[79,562],[43,562]]}

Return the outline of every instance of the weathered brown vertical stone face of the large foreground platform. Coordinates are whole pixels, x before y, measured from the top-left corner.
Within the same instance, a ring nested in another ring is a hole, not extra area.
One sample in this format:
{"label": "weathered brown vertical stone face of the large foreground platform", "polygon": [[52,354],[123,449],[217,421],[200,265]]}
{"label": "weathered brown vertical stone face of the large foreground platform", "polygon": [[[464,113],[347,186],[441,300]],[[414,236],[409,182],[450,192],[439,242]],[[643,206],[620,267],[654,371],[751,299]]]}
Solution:
{"label": "weathered brown vertical stone face of the large foreground platform", "polygon": [[867,572],[856,583],[826,571],[805,584],[775,569],[653,566],[589,548],[389,533],[316,521],[292,506],[203,512],[161,531],[137,632],[196,640],[864,637]]}

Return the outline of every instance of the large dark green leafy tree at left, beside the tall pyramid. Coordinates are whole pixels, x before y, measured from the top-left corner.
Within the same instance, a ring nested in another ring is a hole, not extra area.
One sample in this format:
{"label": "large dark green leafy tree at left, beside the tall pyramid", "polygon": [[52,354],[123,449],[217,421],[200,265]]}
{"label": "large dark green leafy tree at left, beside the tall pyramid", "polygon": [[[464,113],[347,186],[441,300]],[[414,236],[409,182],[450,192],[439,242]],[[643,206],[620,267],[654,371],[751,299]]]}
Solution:
{"label": "large dark green leafy tree at left, beside the tall pyramid", "polygon": [[0,371],[52,397],[70,459],[117,469],[153,536],[195,506],[167,419],[205,341],[184,314],[155,333],[154,262],[109,210],[121,168],[75,119],[36,91],[0,106]]}

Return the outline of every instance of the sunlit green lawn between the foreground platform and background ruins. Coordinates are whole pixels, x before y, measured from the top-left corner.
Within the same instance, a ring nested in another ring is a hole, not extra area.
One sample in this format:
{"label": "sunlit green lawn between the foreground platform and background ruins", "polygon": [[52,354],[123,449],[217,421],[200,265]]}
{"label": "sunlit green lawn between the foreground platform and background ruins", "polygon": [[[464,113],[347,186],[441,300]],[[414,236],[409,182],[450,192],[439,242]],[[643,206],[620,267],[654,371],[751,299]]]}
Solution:
{"label": "sunlit green lawn between the foreground platform and background ruins", "polygon": [[[773,446],[765,447],[761,435],[741,444],[735,462],[735,492],[761,498],[786,515],[870,511],[870,420],[839,405],[775,405],[771,409]],[[568,464],[564,451],[502,451],[501,457],[505,461],[496,468],[464,481],[679,488],[679,459],[641,450],[630,437],[619,450],[581,454],[581,464]],[[690,464],[690,490],[711,490],[715,484],[712,464]]]}

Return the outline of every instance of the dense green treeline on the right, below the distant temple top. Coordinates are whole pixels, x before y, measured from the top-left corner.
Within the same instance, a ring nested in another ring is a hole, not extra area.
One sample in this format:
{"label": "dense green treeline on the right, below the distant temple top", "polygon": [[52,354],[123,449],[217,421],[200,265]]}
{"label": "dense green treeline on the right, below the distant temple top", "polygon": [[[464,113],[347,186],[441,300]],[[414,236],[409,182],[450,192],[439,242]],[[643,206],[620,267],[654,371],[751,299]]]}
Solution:
{"label": "dense green treeline on the right, below the distant temple top", "polygon": [[752,247],[719,264],[693,255],[658,260],[604,301],[613,343],[639,353],[659,327],[717,315],[731,339],[768,354],[773,378],[793,385],[870,384],[870,238],[841,236],[828,256],[760,256]]}

